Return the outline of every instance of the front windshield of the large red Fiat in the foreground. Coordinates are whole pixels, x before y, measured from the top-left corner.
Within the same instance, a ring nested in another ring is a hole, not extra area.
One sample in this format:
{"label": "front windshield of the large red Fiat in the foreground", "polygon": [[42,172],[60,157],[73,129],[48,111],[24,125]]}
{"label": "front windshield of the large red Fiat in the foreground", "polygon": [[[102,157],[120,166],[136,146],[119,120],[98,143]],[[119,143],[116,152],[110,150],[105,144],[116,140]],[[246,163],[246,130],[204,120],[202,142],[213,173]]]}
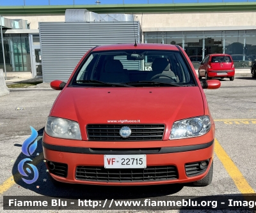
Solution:
{"label": "front windshield of the large red Fiat in the foreground", "polygon": [[116,50],[92,52],[72,86],[191,86],[191,71],[178,51]]}

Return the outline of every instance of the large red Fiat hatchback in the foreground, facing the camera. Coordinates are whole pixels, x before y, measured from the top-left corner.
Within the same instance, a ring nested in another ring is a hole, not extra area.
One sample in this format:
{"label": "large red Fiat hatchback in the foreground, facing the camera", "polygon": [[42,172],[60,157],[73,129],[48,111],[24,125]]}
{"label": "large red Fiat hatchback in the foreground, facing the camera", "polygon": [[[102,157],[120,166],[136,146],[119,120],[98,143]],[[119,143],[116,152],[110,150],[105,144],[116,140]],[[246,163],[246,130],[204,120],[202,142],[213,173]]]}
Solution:
{"label": "large red Fiat hatchback in the foreground, facing the camera", "polygon": [[220,81],[200,83],[178,45],[94,47],[67,84],[51,87],[62,89],[42,142],[53,182],[211,183],[215,128],[203,88]]}

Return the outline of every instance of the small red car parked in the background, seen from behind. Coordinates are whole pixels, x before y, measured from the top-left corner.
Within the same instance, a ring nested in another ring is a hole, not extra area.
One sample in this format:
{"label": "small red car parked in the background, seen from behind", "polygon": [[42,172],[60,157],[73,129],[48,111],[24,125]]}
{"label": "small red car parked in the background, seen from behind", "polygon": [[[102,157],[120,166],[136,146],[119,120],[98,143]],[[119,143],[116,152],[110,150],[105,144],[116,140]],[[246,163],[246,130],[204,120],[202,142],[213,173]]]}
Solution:
{"label": "small red car parked in the background, seen from behind", "polygon": [[205,77],[206,80],[211,78],[235,78],[235,66],[232,57],[227,54],[206,55],[198,68],[198,78]]}

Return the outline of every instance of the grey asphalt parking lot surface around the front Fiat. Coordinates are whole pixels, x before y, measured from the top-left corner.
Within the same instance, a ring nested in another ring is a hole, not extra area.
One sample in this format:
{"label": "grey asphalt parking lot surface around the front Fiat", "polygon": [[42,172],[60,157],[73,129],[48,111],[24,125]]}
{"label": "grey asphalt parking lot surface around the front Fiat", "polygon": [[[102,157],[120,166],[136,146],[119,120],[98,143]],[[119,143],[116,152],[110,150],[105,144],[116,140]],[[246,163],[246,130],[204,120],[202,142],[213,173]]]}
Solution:
{"label": "grey asphalt parking lot surface around the front Fiat", "polygon": [[[189,184],[159,186],[87,186],[61,184],[54,186],[43,162],[42,132],[52,104],[60,91],[50,88],[10,89],[8,96],[0,97],[0,157],[1,157],[1,212],[3,196],[106,196],[123,198],[152,198],[161,196],[211,196],[237,195],[256,191],[256,80],[251,77],[236,77],[234,81],[221,80],[220,89],[205,89],[205,95],[216,124],[216,147],[214,175],[207,187],[191,187]],[[24,110],[15,110],[15,108]],[[65,107],[65,106],[63,106]],[[31,158],[35,158],[39,178],[34,184],[25,184],[15,174],[17,165],[24,158],[21,145],[31,135],[30,126],[38,131],[38,147]],[[223,150],[222,150],[223,149]],[[224,152],[223,152],[224,151]],[[40,154],[41,153],[41,154]],[[14,175],[14,177],[13,177]],[[45,180],[46,179],[46,180]],[[246,185],[247,184],[247,185]],[[95,210],[101,212],[103,210]],[[21,212],[21,211],[20,211]],[[26,210],[24,212],[37,212]],[[39,211],[38,211],[39,212]],[[40,212],[71,212],[71,210],[40,210]],[[89,212],[89,210],[77,210]],[[113,212],[113,210],[104,210]],[[119,210],[115,210],[119,212]],[[124,210],[123,212],[143,212]],[[145,211],[146,212],[146,211]],[[147,211],[148,212],[148,211]],[[160,211],[157,211],[160,212]],[[234,210],[168,210],[165,212],[235,212]],[[242,212],[237,210],[236,212]],[[243,212],[249,212],[244,210]]]}

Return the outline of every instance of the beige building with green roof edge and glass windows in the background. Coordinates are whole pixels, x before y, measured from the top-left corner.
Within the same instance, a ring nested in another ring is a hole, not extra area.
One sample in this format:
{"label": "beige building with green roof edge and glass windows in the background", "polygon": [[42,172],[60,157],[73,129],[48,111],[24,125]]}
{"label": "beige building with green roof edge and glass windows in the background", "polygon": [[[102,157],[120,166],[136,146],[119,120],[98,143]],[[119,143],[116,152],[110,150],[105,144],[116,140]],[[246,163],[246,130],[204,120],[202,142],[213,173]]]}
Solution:
{"label": "beige building with green roof edge and glass windows in the background", "polygon": [[[205,55],[211,53],[236,54],[237,70],[250,73],[250,66],[255,59],[255,2],[1,6],[2,17],[22,19],[28,23],[28,29],[3,29],[8,76],[42,76],[38,23],[65,22],[65,11],[72,8],[86,8],[95,13],[133,14],[140,22],[143,43],[180,45],[189,56],[194,56],[191,60],[200,59],[196,55],[202,55],[204,59]],[[18,46],[20,50],[16,48]],[[10,55],[12,48],[19,50],[14,57]],[[239,59],[239,55],[242,59]],[[13,61],[8,61],[8,57]],[[2,58],[3,51],[0,52],[0,66],[3,66]],[[23,62],[18,63],[19,60]],[[198,62],[193,63],[196,69]]]}

